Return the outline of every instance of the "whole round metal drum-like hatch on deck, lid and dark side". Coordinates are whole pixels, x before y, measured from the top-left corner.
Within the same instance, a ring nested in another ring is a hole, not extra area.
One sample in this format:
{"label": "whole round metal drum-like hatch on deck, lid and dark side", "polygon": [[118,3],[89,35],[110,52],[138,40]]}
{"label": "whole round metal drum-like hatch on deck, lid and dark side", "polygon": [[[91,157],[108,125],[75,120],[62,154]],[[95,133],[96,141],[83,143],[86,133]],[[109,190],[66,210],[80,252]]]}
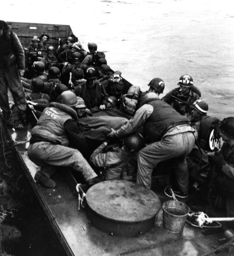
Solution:
{"label": "whole round metal drum-like hatch on deck, lid and dark side", "polygon": [[93,226],[120,236],[149,230],[161,207],[153,191],[126,180],[95,184],[87,191],[86,201],[88,218]]}

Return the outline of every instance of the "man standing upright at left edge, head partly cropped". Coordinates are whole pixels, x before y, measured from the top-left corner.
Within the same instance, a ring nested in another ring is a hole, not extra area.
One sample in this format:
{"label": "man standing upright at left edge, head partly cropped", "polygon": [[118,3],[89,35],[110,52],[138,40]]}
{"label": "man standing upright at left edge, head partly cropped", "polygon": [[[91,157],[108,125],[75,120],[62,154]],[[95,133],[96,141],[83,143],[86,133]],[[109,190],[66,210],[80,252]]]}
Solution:
{"label": "man standing upright at left edge, head partly cropped", "polygon": [[0,107],[3,120],[9,124],[11,110],[8,102],[9,87],[20,121],[26,123],[26,99],[20,77],[25,69],[24,50],[11,26],[0,21]]}

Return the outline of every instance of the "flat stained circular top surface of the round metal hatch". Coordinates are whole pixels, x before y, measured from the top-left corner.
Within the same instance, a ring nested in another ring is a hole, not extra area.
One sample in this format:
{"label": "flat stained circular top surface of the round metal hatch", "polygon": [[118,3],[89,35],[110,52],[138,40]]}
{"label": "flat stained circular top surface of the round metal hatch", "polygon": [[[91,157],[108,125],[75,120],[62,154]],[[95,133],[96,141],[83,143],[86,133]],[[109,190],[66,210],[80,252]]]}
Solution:
{"label": "flat stained circular top surface of the round metal hatch", "polygon": [[98,215],[119,222],[141,222],[154,217],[161,206],[146,187],[126,180],[107,180],[86,193],[88,206]]}

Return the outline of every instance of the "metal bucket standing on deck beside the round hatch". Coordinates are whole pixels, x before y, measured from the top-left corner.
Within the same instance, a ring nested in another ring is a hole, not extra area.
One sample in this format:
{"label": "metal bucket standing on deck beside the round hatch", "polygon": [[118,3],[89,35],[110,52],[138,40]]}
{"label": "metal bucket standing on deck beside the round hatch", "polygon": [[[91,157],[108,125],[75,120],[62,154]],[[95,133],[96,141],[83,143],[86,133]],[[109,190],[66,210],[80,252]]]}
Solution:
{"label": "metal bucket standing on deck beside the round hatch", "polygon": [[163,227],[172,233],[180,233],[184,228],[189,207],[180,201],[166,201],[162,205]]}

